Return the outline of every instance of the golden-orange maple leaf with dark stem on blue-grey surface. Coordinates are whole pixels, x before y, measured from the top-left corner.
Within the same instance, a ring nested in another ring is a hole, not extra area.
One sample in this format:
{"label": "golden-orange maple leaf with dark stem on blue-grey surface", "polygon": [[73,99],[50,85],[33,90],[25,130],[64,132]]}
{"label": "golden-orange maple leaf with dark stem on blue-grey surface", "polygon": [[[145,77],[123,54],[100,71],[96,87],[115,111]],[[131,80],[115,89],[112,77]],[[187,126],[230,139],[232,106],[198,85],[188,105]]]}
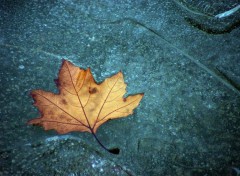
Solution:
{"label": "golden-orange maple leaf with dark stem on blue-grey surface", "polygon": [[81,69],[67,60],[63,60],[55,82],[58,94],[43,90],[31,92],[41,116],[28,121],[28,124],[41,125],[45,130],[54,129],[59,134],[90,132],[104,149],[119,153],[119,149],[107,149],[95,133],[107,120],[132,114],[143,93],[125,98],[127,85],[122,72],[98,84],[90,68]]}

